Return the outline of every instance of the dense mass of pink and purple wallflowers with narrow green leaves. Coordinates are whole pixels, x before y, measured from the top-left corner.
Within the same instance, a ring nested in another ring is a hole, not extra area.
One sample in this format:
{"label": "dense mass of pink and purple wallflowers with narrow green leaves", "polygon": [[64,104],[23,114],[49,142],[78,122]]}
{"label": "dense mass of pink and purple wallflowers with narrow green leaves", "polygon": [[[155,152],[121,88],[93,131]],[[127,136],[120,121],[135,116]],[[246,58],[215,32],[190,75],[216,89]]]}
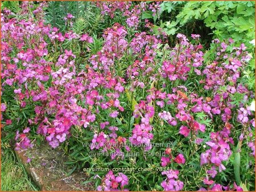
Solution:
{"label": "dense mass of pink and purple wallflowers with narrow green leaves", "polygon": [[61,147],[98,191],[255,190],[253,45],[167,33],[168,3],[6,2],[2,143]]}

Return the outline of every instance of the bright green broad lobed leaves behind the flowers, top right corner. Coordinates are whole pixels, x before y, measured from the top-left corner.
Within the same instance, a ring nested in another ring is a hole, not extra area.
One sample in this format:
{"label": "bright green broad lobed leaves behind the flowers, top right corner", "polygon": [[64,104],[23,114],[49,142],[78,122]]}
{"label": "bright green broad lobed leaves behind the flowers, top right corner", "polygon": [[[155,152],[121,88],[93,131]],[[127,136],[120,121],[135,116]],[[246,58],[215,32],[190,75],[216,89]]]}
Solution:
{"label": "bright green broad lobed leaves behind the flowers, top right corner", "polygon": [[[184,5],[184,7],[180,7]],[[166,32],[174,35],[184,25],[203,20],[206,27],[212,29],[214,37],[224,40],[232,38],[238,44],[255,39],[255,2],[252,1],[191,1],[163,2],[162,11],[175,12],[170,21],[166,21]]]}

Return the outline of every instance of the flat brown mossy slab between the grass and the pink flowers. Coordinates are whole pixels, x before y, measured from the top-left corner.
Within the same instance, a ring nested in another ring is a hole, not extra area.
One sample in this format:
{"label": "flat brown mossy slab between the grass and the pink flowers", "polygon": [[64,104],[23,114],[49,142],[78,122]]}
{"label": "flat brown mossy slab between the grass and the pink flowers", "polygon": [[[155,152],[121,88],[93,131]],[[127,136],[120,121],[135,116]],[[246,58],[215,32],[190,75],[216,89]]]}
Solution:
{"label": "flat brown mossy slab between the grass and the pink flowers", "polygon": [[94,191],[92,182],[82,184],[89,179],[85,172],[75,171],[68,176],[71,168],[64,164],[68,157],[61,149],[53,150],[45,143],[16,151],[16,155],[42,191]]}

